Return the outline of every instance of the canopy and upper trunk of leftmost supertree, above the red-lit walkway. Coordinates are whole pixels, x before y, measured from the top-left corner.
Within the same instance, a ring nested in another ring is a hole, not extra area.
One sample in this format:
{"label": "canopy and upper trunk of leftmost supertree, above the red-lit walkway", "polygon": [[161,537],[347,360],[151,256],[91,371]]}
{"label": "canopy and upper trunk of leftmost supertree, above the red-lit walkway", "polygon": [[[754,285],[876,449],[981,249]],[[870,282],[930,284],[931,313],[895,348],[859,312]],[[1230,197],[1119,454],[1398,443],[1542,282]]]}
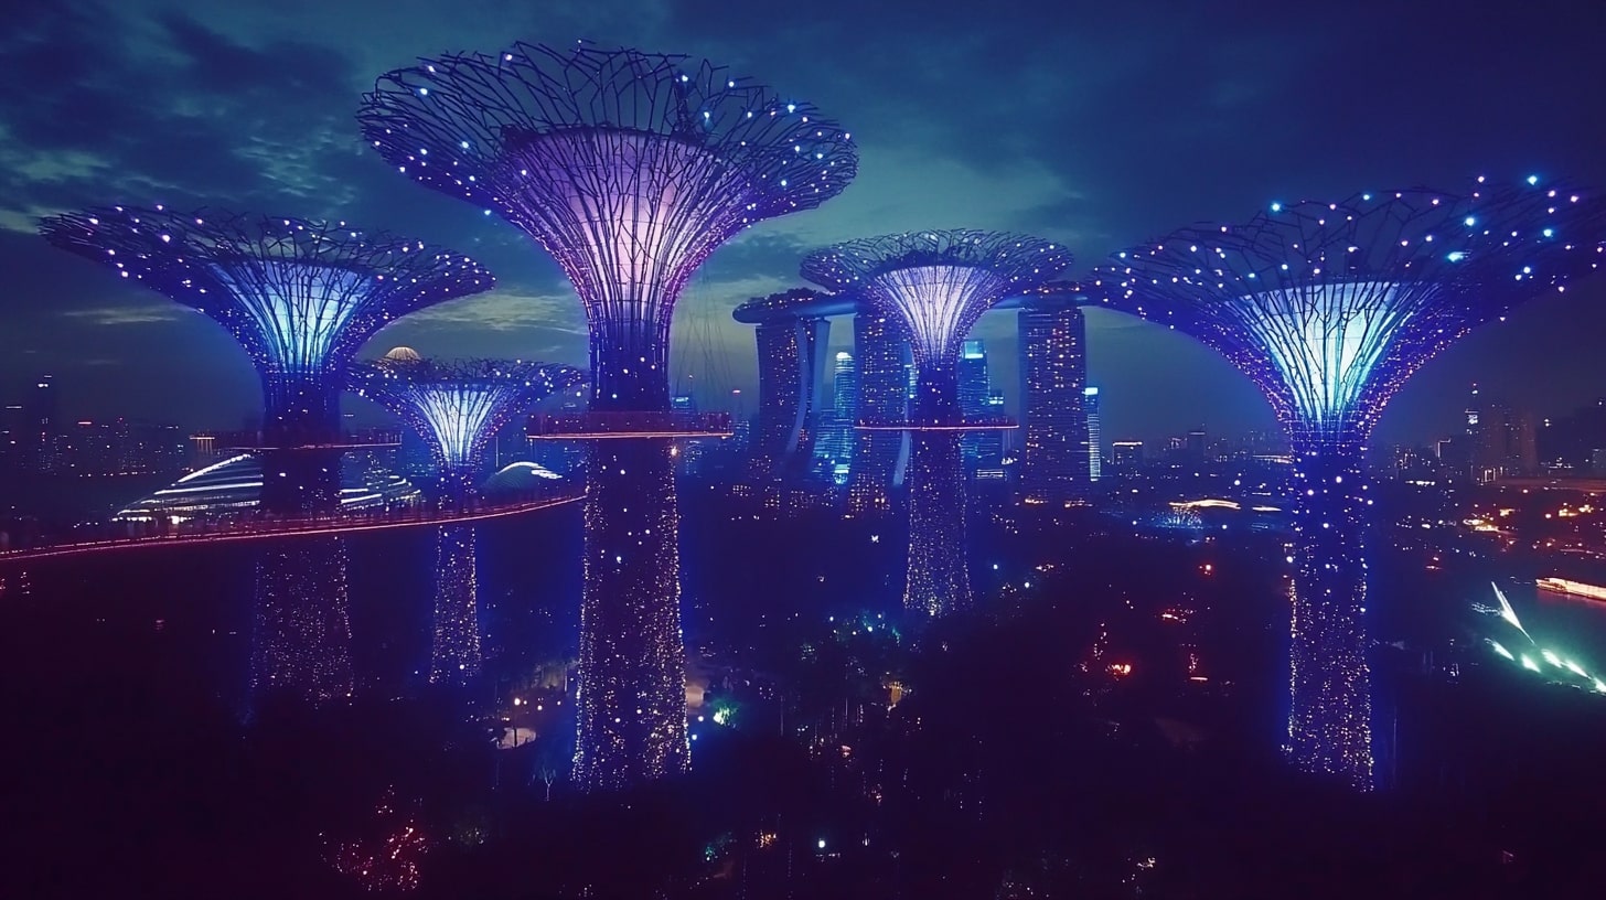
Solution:
{"label": "canopy and upper trunk of leftmost supertree, above the red-lit walkway", "polygon": [[45,219],[40,233],[212,317],[251,354],[273,514],[336,505],[339,397],[357,349],[397,317],[495,284],[466,256],[344,222],[114,206]]}

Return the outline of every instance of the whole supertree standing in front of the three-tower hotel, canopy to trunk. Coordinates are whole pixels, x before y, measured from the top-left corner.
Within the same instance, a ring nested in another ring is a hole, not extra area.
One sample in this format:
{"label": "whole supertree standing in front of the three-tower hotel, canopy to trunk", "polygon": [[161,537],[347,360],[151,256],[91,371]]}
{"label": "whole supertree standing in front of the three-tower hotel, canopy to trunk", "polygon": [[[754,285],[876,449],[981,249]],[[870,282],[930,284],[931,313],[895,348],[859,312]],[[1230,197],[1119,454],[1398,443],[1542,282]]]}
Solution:
{"label": "whole supertree standing in front of the three-tower hotel, canopy to trunk", "polygon": [[964,230],[864,238],[803,260],[805,278],[864,296],[909,336],[919,382],[907,419],[859,423],[914,432],[907,612],[943,616],[970,606],[959,436],[1004,423],[960,415],[959,347],[991,305],[1052,280],[1070,264],[1066,249],[1037,238]]}

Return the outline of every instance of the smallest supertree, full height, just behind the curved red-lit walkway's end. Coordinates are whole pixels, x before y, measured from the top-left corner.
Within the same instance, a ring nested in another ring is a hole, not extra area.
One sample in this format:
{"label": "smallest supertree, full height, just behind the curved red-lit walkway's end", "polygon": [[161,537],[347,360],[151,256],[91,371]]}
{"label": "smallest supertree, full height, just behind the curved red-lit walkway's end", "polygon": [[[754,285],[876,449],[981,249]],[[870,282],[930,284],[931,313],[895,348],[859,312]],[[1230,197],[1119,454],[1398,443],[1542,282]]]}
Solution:
{"label": "smallest supertree, full height, just behind the curved red-lit walkway's end", "polygon": [[[408,423],[442,472],[443,500],[463,505],[498,431],[543,399],[578,386],[565,365],[520,360],[435,362],[392,354],[352,366],[352,392]],[[463,683],[480,670],[479,566],[469,524],[440,526],[435,538],[435,638],[430,681]]]}

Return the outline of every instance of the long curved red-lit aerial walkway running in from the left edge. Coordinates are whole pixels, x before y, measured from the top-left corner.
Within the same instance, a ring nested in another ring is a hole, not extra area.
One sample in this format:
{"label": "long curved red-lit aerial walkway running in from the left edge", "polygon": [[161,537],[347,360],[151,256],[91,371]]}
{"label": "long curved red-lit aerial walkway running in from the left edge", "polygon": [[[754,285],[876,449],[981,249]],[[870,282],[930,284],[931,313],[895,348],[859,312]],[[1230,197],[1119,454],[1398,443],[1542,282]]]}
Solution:
{"label": "long curved red-lit aerial walkway running in from the left edge", "polygon": [[109,553],[117,550],[149,550],[157,546],[188,546],[196,543],[234,543],[243,540],[296,538],[312,535],[347,535],[358,532],[376,532],[387,529],[411,529],[419,526],[443,526],[454,522],[477,522],[485,519],[501,519],[522,516],[538,509],[551,509],[565,503],[577,503],[585,498],[585,492],[572,490],[548,497],[527,497],[496,505],[474,505],[456,508],[419,508],[390,509],[384,513],[353,513],[347,516],[307,516],[307,518],[239,518],[225,521],[188,521],[167,524],[157,534],[127,534],[101,540],[84,540],[71,543],[45,543],[18,550],[0,551],[0,566],[8,562],[27,562],[34,559],[53,559],[61,556],[82,556],[90,553]]}

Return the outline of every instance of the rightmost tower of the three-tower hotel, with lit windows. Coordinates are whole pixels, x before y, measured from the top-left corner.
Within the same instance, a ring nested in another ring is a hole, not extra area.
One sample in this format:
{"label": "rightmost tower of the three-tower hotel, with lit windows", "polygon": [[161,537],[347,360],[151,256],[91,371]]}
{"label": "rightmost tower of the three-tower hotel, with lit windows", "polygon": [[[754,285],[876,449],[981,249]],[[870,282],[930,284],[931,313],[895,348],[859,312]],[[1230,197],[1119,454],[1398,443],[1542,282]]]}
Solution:
{"label": "rightmost tower of the three-tower hotel, with lit windows", "polygon": [[1065,503],[1087,482],[1087,321],[1073,301],[1052,301],[1017,315],[1026,503]]}

